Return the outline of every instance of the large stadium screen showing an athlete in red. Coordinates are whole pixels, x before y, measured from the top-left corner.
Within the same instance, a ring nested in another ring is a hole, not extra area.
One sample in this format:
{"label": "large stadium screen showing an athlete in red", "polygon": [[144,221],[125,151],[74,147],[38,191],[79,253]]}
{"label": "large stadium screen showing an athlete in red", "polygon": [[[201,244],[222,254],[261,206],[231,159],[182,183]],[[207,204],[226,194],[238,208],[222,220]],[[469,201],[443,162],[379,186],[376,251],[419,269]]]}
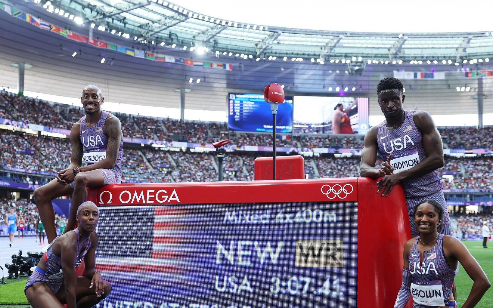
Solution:
{"label": "large stadium screen showing an athlete in red", "polygon": [[[334,126],[347,122],[351,129],[339,134],[366,134],[368,131],[368,98],[364,97],[320,97],[295,96],[294,127],[303,132],[317,128],[318,133],[335,134]],[[342,111],[335,108],[342,104]],[[336,113],[343,114],[344,119],[334,121]],[[336,130],[337,131],[337,130]]]}

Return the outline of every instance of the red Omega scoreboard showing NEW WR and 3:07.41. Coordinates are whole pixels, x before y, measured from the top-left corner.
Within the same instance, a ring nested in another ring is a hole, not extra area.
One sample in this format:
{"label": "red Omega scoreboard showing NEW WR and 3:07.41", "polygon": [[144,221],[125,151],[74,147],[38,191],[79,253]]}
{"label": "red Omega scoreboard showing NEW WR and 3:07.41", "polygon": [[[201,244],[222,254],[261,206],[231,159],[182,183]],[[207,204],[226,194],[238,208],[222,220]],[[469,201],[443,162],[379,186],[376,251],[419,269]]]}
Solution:
{"label": "red Omega scoreboard showing NEW WR and 3:07.41", "polygon": [[368,178],[119,184],[100,208],[98,308],[385,308],[411,238]]}

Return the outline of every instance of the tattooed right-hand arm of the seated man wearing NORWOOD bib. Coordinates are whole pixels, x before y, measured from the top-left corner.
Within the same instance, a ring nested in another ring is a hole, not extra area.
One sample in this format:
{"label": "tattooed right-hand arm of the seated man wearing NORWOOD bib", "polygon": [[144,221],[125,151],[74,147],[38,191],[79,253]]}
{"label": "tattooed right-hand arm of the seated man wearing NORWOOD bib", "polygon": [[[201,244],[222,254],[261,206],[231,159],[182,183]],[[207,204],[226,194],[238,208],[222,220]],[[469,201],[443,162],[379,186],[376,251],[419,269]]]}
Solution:
{"label": "tattooed right-hand arm of the seated man wearing NORWOOD bib", "polygon": [[80,171],[91,171],[96,169],[111,169],[115,167],[118,158],[118,150],[122,140],[122,126],[120,120],[115,116],[108,116],[103,132],[108,136],[108,145],[106,146],[106,158],[100,162],[84,166]]}

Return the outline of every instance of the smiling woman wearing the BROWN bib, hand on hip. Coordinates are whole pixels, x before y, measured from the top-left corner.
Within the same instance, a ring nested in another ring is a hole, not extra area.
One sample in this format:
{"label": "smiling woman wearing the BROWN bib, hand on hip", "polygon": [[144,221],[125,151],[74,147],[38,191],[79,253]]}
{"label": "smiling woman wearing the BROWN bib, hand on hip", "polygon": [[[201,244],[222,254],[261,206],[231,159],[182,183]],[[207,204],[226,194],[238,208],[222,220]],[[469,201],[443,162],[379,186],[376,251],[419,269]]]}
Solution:
{"label": "smiling woman wearing the BROWN bib, hand on hip", "polygon": [[413,296],[413,308],[450,308],[455,269],[458,263],[474,281],[462,308],[473,308],[490,288],[483,269],[464,244],[451,236],[439,234],[443,208],[435,201],[423,201],[414,208],[414,222],[419,236],[404,246],[402,285],[394,308],[404,308]]}

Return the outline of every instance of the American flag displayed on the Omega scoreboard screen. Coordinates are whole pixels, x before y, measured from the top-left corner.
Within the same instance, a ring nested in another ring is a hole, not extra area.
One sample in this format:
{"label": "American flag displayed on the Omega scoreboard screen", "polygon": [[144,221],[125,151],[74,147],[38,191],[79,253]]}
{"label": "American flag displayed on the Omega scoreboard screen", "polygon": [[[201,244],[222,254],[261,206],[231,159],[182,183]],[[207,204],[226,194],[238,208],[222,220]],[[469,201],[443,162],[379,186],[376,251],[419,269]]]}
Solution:
{"label": "American flag displayed on the Omega scoreboard screen", "polygon": [[188,214],[190,210],[101,207],[96,270],[108,278],[196,280],[210,249],[207,235],[190,229],[206,222],[207,215]]}

